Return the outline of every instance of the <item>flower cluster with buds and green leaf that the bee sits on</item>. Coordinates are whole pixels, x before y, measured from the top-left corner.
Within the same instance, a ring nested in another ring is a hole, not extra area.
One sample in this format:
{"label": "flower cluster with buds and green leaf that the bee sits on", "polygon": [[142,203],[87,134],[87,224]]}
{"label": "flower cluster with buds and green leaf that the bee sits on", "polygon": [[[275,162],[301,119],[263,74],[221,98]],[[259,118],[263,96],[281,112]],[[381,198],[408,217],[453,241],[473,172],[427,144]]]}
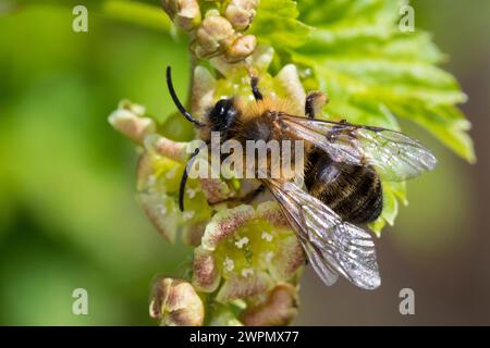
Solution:
{"label": "flower cluster with buds and green leaf that the bee sits on", "polygon": [[[469,123],[454,108],[464,95],[452,76],[434,66],[442,55],[425,33],[408,37],[393,29],[397,1],[375,0],[362,7],[355,1],[320,0],[161,2],[174,27],[189,38],[187,107],[197,120],[222,98],[250,99],[253,71],[268,97],[292,101],[294,114],[304,112],[304,86],[327,90],[332,102],[323,111],[332,121],[345,117],[353,124],[399,129],[394,114],[407,119],[417,114],[416,123],[474,159],[465,134]],[[332,3],[338,3],[338,11],[330,11]],[[171,243],[194,247],[185,275],[155,282],[150,315],[162,325],[291,323],[305,262],[295,234],[273,201],[229,203],[246,191],[245,178],[279,175],[283,165],[291,164],[264,160],[287,159],[283,151],[291,145],[247,147],[217,138],[186,167],[188,154],[206,145],[164,137],[173,132],[166,126],[179,129],[180,119],[157,124],[145,108],[123,101],[109,122],[140,149],[137,197],[148,219]],[[294,147],[297,152],[290,153],[296,162],[294,176],[302,177],[303,165],[297,165],[304,163],[302,145]],[[177,196],[184,171],[189,179],[181,212]],[[399,199],[406,202],[404,183],[384,182],[383,212],[370,224],[373,231],[393,224]]]}

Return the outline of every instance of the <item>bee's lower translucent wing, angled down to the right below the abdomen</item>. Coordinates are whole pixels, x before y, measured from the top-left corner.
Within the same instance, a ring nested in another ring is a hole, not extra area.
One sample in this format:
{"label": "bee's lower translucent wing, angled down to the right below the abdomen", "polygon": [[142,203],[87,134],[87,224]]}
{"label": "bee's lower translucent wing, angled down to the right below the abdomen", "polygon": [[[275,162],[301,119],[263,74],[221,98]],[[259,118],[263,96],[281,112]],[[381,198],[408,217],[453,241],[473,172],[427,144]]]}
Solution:
{"label": "bee's lower translucent wing, angled down to the right below the abdomen", "polygon": [[381,284],[371,236],[343,222],[320,200],[294,183],[265,181],[296,231],[315,271],[327,285],[335,283],[339,273],[365,289]]}

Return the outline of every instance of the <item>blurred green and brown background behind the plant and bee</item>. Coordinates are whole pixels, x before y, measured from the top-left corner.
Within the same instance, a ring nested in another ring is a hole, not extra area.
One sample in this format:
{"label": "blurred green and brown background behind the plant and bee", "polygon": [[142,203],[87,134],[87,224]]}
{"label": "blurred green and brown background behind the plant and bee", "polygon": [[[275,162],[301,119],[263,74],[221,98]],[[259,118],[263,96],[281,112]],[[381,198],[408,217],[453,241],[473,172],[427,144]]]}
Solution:
{"label": "blurred green and brown background behind the plant and bee", "polygon": [[[122,98],[171,113],[164,66],[185,90],[185,45],[90,12],[89,33],[76,34],[71,7],[36,2],[0,14],[0,324],[152,325],[150,281],[189,249],[166,243],[139,209],[136,151],[107,116]],[[412,4],[469,95],[478,163],[406,124],[440,165],[408,184],[409,207],[378,240],[381,288],[326,288],[307,270],[296,324],[490,324],[490,2]],[[78,287],[89,315],[72,314]],[[399,312],[405,287],[415,315]]]}

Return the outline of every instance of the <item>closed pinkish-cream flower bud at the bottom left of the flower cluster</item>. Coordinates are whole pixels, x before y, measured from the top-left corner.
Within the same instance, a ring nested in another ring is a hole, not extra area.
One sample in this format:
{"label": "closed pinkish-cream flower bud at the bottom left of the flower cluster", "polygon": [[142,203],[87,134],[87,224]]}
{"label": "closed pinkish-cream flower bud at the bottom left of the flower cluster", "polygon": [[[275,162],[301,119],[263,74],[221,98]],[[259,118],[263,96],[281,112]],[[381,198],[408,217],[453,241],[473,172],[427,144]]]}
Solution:
{"label": "closed pinkish-cream flower bud at the bottom left of the flower cluster", "polygon": [[160,278],[152,286],[149,314],[162,326],[201,326],[205,309],[185,279]]}

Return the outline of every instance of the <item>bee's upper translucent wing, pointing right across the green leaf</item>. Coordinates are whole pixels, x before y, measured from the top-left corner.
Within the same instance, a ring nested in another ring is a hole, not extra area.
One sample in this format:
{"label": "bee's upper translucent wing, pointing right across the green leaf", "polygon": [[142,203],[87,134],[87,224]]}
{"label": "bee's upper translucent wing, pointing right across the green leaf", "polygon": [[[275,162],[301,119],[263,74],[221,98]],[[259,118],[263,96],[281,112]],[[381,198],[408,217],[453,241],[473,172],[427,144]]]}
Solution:
{"label": "bee's upper translucent wing, pointing right across the green leaf", "polygon": [[335,162],[372,165],[387,181],[402,182],[436,167],[436,157],[406,135],[379,127],[357,126],[282,114],[289,132],[313,142]]}

